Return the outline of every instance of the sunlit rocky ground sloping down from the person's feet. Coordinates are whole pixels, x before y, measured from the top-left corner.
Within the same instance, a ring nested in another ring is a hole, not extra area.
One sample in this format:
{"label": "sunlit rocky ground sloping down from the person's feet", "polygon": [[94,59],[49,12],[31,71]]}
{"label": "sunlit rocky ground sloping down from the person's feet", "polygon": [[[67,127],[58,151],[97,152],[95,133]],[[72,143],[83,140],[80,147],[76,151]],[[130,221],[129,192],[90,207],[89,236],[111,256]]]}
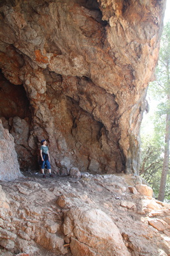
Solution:
{"label": "sunlit rocky ground sloping down from the person's feet", "polygon": [[138,176],[34,173],[0,188],[2,256],[170,255],[170,204]]}

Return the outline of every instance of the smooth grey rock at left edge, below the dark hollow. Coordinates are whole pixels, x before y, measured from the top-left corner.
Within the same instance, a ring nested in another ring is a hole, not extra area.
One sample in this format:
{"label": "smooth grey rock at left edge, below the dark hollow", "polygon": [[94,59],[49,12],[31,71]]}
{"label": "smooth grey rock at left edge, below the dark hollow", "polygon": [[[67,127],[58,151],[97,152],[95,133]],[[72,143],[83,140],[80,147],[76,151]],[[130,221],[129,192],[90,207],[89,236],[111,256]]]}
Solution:
{"label": "smooth grey rock at left edge, below the dark hollow", "polygon": [[18,164],[13,136],[3,128],[0,120],[0,180],[14,180],[22,177]]}

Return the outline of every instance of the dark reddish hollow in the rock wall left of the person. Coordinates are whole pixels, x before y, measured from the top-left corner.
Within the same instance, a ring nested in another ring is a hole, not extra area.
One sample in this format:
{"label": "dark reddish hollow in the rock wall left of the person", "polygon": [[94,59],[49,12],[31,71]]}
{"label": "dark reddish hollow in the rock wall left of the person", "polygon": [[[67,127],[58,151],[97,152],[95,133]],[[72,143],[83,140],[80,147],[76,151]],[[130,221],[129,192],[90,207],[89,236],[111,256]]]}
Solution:
{"label": "dark reddish hollow in the rock wall left of the person", "polygon": [[31,106],[24,86],[11,84],[0,71],[0,118],[15,141],[20,170],[35,170],[38,161],[29,147]]}

